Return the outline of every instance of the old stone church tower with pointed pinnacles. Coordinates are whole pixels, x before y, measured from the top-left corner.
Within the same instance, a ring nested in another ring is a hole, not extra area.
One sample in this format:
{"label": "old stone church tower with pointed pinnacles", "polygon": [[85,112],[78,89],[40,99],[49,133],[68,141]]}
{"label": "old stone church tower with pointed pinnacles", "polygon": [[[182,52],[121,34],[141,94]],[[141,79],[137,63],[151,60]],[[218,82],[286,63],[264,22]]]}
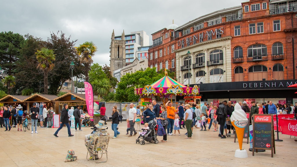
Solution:
{"label": "old stone church tower with pointed pinnacles", "polygon": [[110,72],[112,76],[115,70],[123,68],[124,66],[126,66],[125,33],[123,30],[121,39],[115,39],[113,30],[110,43]]}

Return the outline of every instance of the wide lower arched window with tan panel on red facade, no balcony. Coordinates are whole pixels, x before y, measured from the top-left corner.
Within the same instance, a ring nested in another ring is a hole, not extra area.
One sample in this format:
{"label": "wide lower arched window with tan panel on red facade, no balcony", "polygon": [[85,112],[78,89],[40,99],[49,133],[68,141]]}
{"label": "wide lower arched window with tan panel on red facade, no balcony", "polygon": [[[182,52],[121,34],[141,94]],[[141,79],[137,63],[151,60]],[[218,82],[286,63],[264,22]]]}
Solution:
{"label": "wide lower arched window with tan panel on red facade, no balcony", "polygon": [[248,70],[249,81],[262,81],[268,76],[267,67],[264,65],[254,65]]}

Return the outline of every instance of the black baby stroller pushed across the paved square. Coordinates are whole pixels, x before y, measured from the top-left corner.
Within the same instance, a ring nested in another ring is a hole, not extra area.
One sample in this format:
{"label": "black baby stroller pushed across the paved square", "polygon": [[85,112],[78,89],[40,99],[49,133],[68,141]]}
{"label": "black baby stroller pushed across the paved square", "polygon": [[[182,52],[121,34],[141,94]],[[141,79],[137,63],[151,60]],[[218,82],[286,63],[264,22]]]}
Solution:
{"label": "black baby stroller pushed across the paved square", "polygon": [[[153,119],[149,120],[148,123],[149,123],[149,129],[147,130],[144,136],[142,135],[138,136],[138,138],[136,139],[136,144],[140,143],[140,145],[144,145],[146,143],[145,141],[148,141],[150,143],[154,142],[155,144],[159,143],[157,139],[157,133],[156,133],[158,129],[157,123]],[[142,140],[140,140],[139,138]]]}

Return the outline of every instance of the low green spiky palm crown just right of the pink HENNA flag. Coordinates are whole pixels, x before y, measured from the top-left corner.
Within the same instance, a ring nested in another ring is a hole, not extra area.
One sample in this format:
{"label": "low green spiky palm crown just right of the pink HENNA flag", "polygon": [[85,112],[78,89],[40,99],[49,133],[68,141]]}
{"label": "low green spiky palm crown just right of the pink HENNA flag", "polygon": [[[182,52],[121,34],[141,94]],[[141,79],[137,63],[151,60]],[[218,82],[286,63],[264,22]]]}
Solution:
{"label": "low green spiky palm crown just right of the pink HENNA flag", "polygon": [[100,80],[95,79],[91,82],[91,84],[93,86],[94,94],[99,95],[100,97],[107,95],[109,90],[112,88],[109,80],[106,78],[102,78]]}

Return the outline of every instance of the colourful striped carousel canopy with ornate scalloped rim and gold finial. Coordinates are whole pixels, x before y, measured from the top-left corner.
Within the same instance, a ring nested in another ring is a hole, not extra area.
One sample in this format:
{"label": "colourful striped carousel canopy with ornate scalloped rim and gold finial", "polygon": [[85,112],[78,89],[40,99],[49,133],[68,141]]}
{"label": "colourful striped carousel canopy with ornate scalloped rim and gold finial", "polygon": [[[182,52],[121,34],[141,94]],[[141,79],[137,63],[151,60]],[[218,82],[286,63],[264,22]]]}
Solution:
{"label": "colourful striped carousel canopy with ornate scalloped rim and gold finial", "polygon": [[[165,69],[165,76],[151,85],[146,85],[144,88],[134,87],[135,95],[141,97],[159,96],[163,98],[163,103],[168,101],[168,97],[175,96],[186,96],[186,97],[197,97],[199,95],[199,87],[185,86],[178,81],[170,78]],[[200,97],[201,98],[201,97]]]}

